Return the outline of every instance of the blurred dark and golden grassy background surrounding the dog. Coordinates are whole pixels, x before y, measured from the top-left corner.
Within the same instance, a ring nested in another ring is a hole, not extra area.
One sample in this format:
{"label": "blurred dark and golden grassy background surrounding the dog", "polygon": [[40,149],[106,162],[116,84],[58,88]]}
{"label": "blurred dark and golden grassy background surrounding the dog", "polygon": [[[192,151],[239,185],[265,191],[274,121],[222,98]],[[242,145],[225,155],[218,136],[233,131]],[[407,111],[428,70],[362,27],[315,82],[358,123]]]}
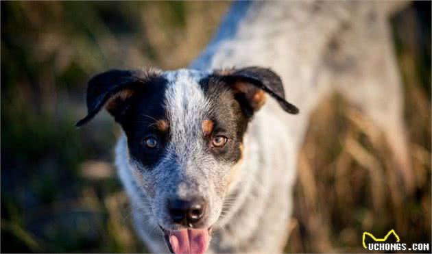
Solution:
{"label": "blurred dark and golden grassy background surrounding the dog", "polygon": [[[75,128],[86,81],[187,66],[229,5],[1,1],[1,252],[145,251],[112,165],[119,127],[104,112]],[[299,157],[289,253],[364,252],[363,231],[431,242],[431,2],[411,3],[392,27],[415,190],[392,195],[381,132],[334,94]]]}

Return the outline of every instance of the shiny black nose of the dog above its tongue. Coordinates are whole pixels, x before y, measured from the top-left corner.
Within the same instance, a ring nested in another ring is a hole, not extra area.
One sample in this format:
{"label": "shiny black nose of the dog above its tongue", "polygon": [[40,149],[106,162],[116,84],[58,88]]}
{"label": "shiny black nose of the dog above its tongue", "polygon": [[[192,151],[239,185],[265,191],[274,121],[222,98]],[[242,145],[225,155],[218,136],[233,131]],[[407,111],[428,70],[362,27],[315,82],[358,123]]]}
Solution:
{"label": "shiny black nose of the dog above its tongue", "polygon": [[191,199],[190,201],[173,199],[168,201],[167,208],[175,223],[193,227],[203,218],[206,203],[204,199]]}

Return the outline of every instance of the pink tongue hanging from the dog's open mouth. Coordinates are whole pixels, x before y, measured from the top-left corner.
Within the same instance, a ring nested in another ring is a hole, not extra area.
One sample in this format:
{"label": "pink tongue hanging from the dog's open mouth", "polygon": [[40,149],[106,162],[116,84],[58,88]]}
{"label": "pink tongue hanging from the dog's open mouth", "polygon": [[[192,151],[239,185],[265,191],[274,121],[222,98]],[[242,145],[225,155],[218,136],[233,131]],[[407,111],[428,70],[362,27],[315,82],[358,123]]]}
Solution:
{"label": "pink tongue hanging from the dog's open mouth", "polygon": [[208,247],[207,229],[183,229],[169,233],[169,243],[176,254],[202,254]]}

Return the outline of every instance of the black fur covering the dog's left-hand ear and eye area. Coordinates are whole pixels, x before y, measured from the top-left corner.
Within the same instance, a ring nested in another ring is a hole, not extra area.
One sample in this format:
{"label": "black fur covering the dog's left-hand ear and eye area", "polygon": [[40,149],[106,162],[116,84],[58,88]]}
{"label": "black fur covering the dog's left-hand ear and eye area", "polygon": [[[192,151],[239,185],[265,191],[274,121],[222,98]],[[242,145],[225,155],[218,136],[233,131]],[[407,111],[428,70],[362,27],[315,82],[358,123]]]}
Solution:
{"label": "black fur covering the dog's left-hand ear and eye area", "polygon": [[[88,114],[77,126],[87,123],[106,106],[125,131],[132,157],[144,166],[152,166],[168,142],[167,134],[160,133],[155,125],[156,120],[165,120],[163,92],[166,84],[167,80],[156,70],[112,70],[96,75],[88,82]],[[158,139],[156,147],[149,149],[143,144],[148,136]]]}

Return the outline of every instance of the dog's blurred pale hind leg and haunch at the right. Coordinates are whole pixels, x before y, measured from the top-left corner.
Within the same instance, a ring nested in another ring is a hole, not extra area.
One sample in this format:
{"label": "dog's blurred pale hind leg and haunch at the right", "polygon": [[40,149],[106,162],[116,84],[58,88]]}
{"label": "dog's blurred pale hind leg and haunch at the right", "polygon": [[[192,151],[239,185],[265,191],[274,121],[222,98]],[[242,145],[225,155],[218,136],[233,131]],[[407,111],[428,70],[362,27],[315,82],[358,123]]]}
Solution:
{"label": "dog's blurred pale hind leg and haunch at the right", "polygon": [[396,173],[408,193],[413,189],[403,123],[403,86],[387,14],[374,4],[362,8],[328,44],[322,79],[379,127],[389,144]]}

